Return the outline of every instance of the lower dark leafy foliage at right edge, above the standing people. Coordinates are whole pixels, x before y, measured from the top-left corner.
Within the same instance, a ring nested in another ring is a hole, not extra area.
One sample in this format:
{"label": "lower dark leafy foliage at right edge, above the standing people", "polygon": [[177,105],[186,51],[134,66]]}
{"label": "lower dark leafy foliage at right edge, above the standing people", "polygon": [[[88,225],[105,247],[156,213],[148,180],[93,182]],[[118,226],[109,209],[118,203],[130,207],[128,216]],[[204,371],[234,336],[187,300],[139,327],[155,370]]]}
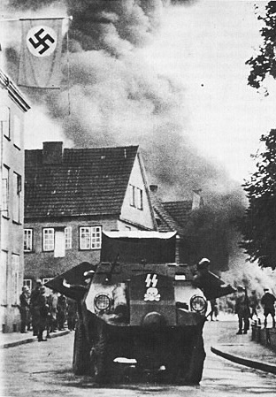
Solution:
{"label": "lower dark leafy foliage at right edge, above the standing people", "polygon": [[243,184],[249,207],[240,225],[241,247],[250,260],[276,268],[276,129],[262,135],[265,151],[257,156],[257,172]]}

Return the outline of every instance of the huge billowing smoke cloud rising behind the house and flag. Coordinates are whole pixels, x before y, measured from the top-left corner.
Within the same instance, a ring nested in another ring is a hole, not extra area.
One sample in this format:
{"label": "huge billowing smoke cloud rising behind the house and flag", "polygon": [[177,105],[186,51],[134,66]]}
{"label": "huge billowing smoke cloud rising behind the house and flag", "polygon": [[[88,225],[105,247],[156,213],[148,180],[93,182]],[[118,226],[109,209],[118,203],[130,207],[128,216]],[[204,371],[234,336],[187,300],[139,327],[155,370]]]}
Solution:
{"label": "huge billowing smoke cloud rising behind the house and flag", "polygon": [[[209,204],[207,220],[216,218],[219,225],[221,218],[231,234],[234,217],[243,208],[241,187],[189,141],[185,88],[153,73],[137,55],[137,49],[154,40],[162,13],[172,3],[193,2],[11,0],[18,13],[43,15],[57,7],[73,15],[69,95],[65,52],[64,88],[58,94],[41,95],[30,88],[25,92],[34,103],[45,106],[76,147],[140,144],[149,180],[162,187],[165,199],[187,199],[193,189],[202,188]],[[14,72],[18,48],[6,54],[12,65],[9,70]]]}

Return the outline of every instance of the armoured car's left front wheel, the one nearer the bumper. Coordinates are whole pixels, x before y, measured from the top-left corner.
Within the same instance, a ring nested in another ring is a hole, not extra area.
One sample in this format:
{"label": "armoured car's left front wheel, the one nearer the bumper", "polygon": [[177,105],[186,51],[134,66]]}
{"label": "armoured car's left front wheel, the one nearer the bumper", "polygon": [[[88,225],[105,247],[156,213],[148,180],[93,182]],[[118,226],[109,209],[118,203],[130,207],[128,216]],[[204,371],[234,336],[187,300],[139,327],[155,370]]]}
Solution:
{"label": "armoured car's left front wheel, the one nearer the bumper", "polygon": [[111,373],[111,355],[108,335],[103,324],[98,325],[95,340],[90,352],[91,369],[97,383],[108,383]]}

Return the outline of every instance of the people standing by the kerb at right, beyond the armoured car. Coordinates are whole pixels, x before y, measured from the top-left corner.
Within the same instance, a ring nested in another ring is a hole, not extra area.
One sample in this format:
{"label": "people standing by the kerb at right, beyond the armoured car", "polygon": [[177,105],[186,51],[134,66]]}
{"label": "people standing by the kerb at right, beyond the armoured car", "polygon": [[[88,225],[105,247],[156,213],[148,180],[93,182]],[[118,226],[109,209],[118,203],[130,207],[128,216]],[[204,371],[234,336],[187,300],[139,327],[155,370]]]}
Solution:
{"label": "people standing by the kerb at right, beyond the armoured car", "polygon": [[275,327],[275,302],[276,297],[270,292],[269,288],[264,289],[264,295],[259,301],[256,291],[252,291],[251,295],[248,296],[246,288],[238,286],[235,304],[235,313],[239,318],[239,330],[237,334],[247,333],[249,331],[249,318],[255,316],[258,324],[260,324],[260,319],[257,314],[257,309],[260,304],[264,308],[265,327],[267,326],[267,317],[269,315],[272,317],[272,327]]}

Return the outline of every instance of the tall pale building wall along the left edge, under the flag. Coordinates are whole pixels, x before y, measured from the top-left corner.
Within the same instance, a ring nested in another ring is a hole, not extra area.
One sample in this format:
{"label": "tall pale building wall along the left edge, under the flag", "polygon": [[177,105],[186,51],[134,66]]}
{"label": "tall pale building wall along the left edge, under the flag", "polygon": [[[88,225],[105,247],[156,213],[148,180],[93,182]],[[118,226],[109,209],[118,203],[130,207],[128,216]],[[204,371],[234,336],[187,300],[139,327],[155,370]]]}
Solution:
{"label": "tall pale building wall along the left edge, under the flag", "polygon": [[0,332],[19,330],[23,286],[24,114],[28,104],[0,70]]}

